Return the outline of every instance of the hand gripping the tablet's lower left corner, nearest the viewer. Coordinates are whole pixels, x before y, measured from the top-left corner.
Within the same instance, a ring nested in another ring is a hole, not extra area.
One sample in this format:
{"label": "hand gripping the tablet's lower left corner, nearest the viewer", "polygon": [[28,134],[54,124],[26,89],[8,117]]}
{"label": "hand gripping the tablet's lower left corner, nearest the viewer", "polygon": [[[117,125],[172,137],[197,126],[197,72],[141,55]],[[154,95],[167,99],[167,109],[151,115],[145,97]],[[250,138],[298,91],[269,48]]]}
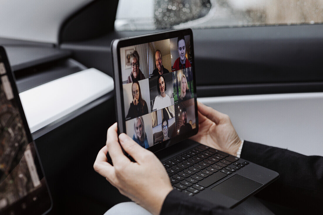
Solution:
{"label": "hand gripping the tablet's lower left corner, nearest the viewer", "polygon": [[[131,162],[122,152],[118,142],[117,123],[107,133],[107,143],[94,162],[94,169],[104,176],[121,194],[153,214],[159,214],[172,185],[159,159],[142,148],[128,135],[119,135],[122,148],[136,161]],[[107,162],[107,153],[113,166]]]}

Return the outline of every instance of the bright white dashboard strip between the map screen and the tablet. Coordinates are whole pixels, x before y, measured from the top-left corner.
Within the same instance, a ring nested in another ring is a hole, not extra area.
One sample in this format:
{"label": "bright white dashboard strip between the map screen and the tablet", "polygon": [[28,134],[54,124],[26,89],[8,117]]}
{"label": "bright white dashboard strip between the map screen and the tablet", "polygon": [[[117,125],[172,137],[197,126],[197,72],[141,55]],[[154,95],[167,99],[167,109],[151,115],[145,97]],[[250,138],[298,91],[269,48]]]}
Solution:
{"label": "bright white dashboard strip between the map screen and the tablet", "polygon": [[113,78],[89,68],[19,93],[33,133],[111,92]]}

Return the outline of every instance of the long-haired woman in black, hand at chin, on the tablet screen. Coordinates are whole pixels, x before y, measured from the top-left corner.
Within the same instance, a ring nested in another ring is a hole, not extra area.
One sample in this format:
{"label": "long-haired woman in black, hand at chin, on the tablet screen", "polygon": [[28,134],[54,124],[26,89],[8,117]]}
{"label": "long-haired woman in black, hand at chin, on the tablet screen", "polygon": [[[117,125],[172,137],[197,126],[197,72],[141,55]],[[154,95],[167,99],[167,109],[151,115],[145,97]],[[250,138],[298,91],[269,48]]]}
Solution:
{"label": "long-haired woman in black, hand at chin, on the tablet screen", "polygon": [[141,97],[141,89],[138,81],[132,83],[132,102],[126,118],[135,118],[148,114],[148,106],[145,100]]}

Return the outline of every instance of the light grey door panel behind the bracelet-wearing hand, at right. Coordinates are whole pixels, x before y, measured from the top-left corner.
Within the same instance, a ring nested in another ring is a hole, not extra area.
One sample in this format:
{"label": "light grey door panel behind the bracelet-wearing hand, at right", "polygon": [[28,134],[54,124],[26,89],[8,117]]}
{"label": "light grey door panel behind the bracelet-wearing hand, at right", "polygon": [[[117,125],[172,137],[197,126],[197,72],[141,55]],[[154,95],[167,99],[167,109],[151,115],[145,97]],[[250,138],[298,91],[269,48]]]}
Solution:
{"label": "light grey door panel behind the bracelet-wearing hand, at right", "polygon": [[240,138],[305,155],[323,156],[323,93],[290,93],[198,100],[228,114]]}

